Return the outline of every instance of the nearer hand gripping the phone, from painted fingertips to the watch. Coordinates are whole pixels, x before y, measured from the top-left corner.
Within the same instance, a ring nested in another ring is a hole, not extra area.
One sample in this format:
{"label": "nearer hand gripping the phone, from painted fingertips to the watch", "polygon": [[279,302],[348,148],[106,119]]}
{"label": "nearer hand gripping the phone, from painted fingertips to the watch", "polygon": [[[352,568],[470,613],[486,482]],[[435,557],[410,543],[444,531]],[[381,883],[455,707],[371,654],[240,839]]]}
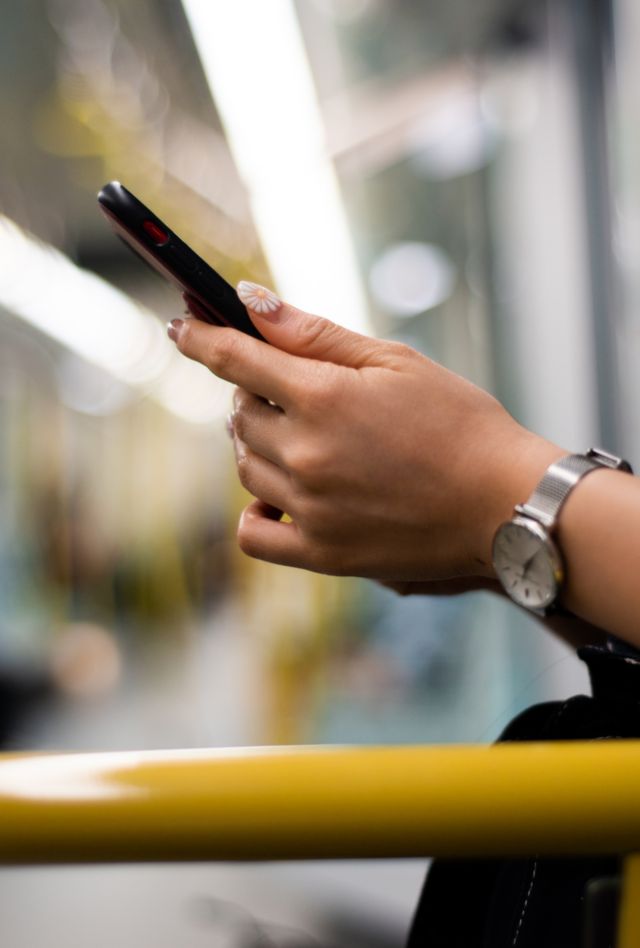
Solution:
{"label": "nearer hand gripping the phone, from painted fingertips to the watch", "polygon": [[239,295],[271,345],[195,319],[174,320],[170,335],[239,386],[237,465],[257,498],[240,521],[241,548],[387,581],[491,577],[496,527],[560,449],[407,346],[253,284]]}

